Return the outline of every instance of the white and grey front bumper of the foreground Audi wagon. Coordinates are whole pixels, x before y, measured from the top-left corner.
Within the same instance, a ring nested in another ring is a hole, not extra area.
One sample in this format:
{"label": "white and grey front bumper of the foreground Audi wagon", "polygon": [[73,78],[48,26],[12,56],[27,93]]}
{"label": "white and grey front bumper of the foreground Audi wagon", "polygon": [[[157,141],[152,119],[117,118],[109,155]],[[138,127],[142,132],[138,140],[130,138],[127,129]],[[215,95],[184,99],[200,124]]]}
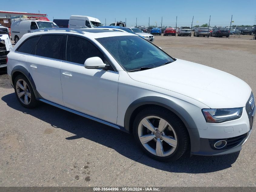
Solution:
{"label": "white and grey front bumper of the foreground Audi wagon", "polygon": [[[231,120],[224,123],[207,123],[207,129],[188,129],[191,137],[191,154],[193,155],[224,155],[234,153],[242,149],[242,145],[251,135],[253,120],[248,118],[245,107],[242,116],[237,120]],[[226,146],[217,149],[214,143],[224,140]],[[193,142],[193,145],[192,145]]]}

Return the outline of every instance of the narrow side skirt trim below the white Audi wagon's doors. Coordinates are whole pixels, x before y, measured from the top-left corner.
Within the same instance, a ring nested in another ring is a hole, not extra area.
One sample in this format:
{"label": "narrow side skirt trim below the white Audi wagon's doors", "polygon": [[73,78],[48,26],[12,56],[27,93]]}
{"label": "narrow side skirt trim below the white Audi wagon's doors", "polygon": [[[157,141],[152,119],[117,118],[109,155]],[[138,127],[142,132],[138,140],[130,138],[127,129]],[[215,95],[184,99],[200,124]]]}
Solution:
{"label": "narrow side skirt trim below the white Audi wagon's doors", "polygon": [[97,121],[97,122],[99,122],[99,123],[102,123],[102,124],[105,124],[105,125],[114,127],[114,128],[116,128],[116,129],[122,130],[122,131],[124,131],[124,132],[127,132],[127,130],[125,130],[125,128],[124,128],[123,126],[119,126],[119,125],[116,125],[116,124],[114,124],[114,123],[111,123],[111,122],[108,122],[108,121],[99,119],[99,118],[97,118],[97,117],[94,117],[94,116],[91,116],[91,115],[88,115],[88,114],[85,114],[85,113],[81,113],[81,112],[76,111],[76,110],[74,110],[74,109],[70,109],[70,108],[68,108],[68,107],[59,105],[59,104],[57,104],[57,103],[53,103],[53,102],[48,101],[48,100],[45,100],[45,99],[39,99],[39,101],[42,101],[42,102],[47,103],[47,104],[49,104],[49,105],[58,107],[58,108],[60,108],[60,109],[64,109],[65,111],[68,111],[68,112],[71,112],[71,113],[75,113],[75,114],[80,115],[80,116],[83,116],[83,117],[85,117],[85,118],[88,118],[88,119]]}

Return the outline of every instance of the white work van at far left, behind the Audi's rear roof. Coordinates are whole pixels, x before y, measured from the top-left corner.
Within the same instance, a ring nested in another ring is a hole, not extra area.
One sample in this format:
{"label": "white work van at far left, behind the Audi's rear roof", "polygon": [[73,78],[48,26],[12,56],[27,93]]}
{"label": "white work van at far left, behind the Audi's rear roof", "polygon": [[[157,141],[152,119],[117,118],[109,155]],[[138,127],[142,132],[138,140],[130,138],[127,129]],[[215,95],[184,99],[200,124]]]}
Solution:
{"label": "white work van at far left, behind the Audi's rear roof", "polygon": [[24,34],[30,33],[35,29],[44,28],[58,28],[58,25],[51,21],[40,21],[32,19],[15,20],[11,25],[11,40],[14,40],[15,43],[17,43]]}

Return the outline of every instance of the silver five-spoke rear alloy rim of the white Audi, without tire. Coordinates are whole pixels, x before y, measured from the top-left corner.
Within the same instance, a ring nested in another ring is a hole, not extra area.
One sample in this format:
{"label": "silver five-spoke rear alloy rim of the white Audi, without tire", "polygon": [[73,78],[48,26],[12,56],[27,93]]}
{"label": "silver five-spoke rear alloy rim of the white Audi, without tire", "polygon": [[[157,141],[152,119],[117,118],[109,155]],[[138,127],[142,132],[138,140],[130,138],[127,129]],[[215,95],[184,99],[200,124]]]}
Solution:
{"label": "silver five-spoke rear alloy rim of the white Audi, without tire", "polygon": [[23,104],[28,105],[30,103],[31,93],[28,84],[25,82],[25,80],[18,79],[18,81],[16,82],[16,92],[19,100]]}

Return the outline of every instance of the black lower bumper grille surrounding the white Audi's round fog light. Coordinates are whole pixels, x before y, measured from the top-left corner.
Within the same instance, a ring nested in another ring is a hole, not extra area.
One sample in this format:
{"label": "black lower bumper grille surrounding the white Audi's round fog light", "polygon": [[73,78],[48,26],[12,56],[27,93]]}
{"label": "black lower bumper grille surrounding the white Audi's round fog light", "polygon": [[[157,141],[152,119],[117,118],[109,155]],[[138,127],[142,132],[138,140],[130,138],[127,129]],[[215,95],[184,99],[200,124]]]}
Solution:
{"label": "black lower bumper grille surrounding the white Audi's round fog light", "polygon": [[[209,139],[209,144],[211,146],[212,149],[214,150],[225,150],[225,149],[230,149],[232,147],[236,147],[238,146],[245,137],[247,137],[248,133],[244,133],[243,135],[239,135],[236,137],[231,137],[231,138],[226,138],[226,139]],[[217,149],[214,147],[214,143],[216,143],[219,140],[225,140],[227,141],[227,145],[221,149]]]}

